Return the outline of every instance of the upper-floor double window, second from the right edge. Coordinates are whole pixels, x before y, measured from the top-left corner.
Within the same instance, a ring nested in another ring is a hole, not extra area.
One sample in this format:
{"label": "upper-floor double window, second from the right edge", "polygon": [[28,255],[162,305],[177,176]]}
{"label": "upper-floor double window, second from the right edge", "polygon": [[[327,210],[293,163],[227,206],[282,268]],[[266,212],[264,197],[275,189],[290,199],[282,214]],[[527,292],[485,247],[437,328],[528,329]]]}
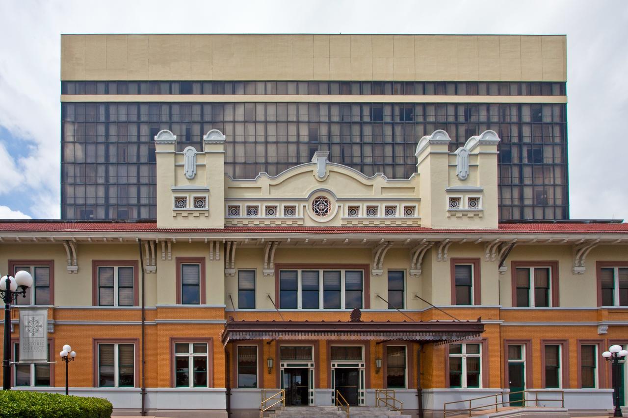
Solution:
{"label": "upper-floor double window, second from the right edge", "polygon": [[517,267],[516,306],[520,308],[551,306],[551,269],[549,267]]}

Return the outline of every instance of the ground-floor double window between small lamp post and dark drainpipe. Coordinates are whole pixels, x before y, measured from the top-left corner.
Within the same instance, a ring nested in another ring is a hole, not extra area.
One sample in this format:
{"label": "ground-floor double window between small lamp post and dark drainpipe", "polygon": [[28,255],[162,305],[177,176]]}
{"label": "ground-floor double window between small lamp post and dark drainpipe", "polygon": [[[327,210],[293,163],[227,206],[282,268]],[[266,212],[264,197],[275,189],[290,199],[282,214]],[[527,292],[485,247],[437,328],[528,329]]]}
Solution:
{"label": "ground-floor double window between small lamp post and dark drainpipe", "polygon": [[98,386],[134,387],[135,345],[98,345]]}

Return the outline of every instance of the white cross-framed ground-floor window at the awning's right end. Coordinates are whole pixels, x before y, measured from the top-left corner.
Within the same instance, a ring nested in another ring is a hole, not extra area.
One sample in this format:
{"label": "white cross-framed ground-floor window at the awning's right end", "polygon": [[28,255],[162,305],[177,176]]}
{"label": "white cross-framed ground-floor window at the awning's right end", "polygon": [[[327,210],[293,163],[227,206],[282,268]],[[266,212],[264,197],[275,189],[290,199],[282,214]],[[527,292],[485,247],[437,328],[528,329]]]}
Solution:
{"label": "white cross-framed ground-floor window at the awning's right end", "polygon": [[449,346],[449,387],[481,387],[480,351],[479,343]]}

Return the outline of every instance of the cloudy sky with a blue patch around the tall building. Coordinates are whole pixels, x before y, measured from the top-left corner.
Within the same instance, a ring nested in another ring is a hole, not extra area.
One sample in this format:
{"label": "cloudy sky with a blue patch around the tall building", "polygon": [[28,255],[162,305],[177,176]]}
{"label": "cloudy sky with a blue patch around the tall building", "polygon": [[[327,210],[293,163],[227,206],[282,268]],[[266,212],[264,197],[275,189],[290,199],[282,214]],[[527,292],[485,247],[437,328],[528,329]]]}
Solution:
{"label": "cloudy sky with a blue patch around the tall building", "polygon": [[0,218],[60,216],[62,33],[408,33],[566,35],[571,218],[628,220],[628,1],[3,0],[0,16]]}

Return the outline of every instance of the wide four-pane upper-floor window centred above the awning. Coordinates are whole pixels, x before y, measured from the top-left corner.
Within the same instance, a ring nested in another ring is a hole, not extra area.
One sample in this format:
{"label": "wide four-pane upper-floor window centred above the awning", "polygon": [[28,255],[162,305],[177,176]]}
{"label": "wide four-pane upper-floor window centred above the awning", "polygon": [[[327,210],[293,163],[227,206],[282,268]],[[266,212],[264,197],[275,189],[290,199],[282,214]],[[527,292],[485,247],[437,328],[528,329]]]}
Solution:
{"label": "wide four-pane upper-floor window centred above the awning", "polygon": [[364,271],[282,270],[282,309],[354,309],[364,306]]}

